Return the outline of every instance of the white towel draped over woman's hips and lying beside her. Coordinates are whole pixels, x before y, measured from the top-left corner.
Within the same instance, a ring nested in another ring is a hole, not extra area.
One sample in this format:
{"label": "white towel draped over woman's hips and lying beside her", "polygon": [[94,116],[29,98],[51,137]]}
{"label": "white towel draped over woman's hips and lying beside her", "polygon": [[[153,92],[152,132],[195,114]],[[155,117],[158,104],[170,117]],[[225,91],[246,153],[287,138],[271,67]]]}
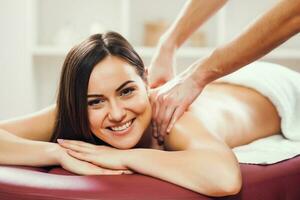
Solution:
{"label": "white towel draped over woman's hips and lying beside her", "polygon": [[281,117],[282,135],[233,149],[240,163],[272,164],[300,154],[300,73],[277,64],[254,62],[218,82],[255,89],[270,99]]}

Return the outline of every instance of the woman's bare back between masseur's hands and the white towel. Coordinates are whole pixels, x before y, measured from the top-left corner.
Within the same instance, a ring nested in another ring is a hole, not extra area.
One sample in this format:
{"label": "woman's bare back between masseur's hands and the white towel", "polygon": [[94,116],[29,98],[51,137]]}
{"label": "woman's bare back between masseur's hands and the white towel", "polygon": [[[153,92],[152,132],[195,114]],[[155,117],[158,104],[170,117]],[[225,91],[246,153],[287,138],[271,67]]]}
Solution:
{"label": "woman's bare back between masseur's hands and the white towel", "polygon": [[250,88],[214,83],[177,121],[165,148],[182,150],[212,141],[233,148],[278,133],[280,117],[266,97]]}

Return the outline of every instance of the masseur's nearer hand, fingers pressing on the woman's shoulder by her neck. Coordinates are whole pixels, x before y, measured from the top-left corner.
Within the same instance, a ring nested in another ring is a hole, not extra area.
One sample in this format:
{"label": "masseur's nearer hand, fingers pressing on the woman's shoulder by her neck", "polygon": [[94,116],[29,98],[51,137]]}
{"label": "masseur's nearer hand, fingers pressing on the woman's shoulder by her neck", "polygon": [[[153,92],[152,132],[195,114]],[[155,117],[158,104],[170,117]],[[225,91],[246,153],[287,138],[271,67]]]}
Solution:
{"label": "masseur's nearer hand, fingers pressing on the woman's shoulder by her neck", "polygon": [[153,136],[160,144],[201,91],[202,88],[185,75],[179,75],[151,91]]}

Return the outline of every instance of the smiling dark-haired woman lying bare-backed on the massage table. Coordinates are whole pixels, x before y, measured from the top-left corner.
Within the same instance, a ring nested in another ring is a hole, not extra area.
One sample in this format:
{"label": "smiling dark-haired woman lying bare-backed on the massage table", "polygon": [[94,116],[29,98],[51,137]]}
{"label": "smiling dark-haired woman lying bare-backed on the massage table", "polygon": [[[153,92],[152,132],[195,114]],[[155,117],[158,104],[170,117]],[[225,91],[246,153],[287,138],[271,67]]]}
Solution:
{"label": "smiling dark-haired woman lying bare-backed on the massage table", "polygon": [[61,165],[83,175],[134,171],[224,196],[241,188],[230,148],[280,132],[268,98],[219,82],[206,87],[158,145],[150,95],[130,44],[114,32],[93,35],[68,53],[56,105],[0,123],[0,163]]}

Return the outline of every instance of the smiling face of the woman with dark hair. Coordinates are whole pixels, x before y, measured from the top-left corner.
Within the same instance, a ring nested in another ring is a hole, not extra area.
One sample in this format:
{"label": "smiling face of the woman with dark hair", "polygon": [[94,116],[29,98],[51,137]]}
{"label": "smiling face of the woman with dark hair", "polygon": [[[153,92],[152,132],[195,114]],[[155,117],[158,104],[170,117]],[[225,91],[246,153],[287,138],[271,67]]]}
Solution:
{"label": "smiling face of the woman with dark hair", "polygon": [[119,149],[134,147],[151,120],[145,82],[134,66],[116,56],[94,67],[87,101],[92,132]]}

